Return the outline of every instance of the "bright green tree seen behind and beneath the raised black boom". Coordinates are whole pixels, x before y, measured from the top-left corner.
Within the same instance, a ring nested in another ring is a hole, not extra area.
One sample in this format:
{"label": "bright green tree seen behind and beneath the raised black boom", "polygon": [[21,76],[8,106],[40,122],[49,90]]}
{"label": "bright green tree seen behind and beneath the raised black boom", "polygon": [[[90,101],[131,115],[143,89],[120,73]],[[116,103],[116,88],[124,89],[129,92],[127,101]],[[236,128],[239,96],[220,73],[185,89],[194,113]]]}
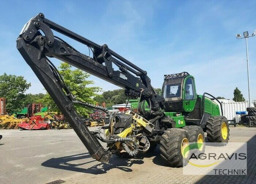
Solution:
{"label": "bright green tree seen behind and beneath the raised black boom", "polygon": [[[100,88],[88,87],[88,85],[94,83],[93,81],[86,80],[90,76],[89,73],[83,72],[80,69],[72,70],[71,65],[67,63],[61,63],[59,69],[60,75],[63,77],[71,93],[76,96],[77,100],[96,104],[92,97],[97,96],[96,93],[100,91]],[[44,96],[43,102],[47,105],[49,111],[60,112],[48,93]],[[88,116],[88,114],[92,112],[91,109],[79,104],[75,104],[75,108],[81,116]]]}

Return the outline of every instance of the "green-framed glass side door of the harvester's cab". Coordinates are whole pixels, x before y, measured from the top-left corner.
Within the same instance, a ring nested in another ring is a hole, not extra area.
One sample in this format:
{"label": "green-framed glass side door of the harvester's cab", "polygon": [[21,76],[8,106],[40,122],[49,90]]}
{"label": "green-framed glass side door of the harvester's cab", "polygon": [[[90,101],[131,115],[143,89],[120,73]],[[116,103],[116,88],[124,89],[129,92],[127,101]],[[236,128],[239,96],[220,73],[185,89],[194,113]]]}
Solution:
{"label": "green-framed glass side door of the harvester's cab", "polygon": [[184,85],[182,88],[182,99],[183,99],[183,109],[186,112],[191,112],[194,110],[196,104],[196,87],[194,77],[188,76],[184,80]]}

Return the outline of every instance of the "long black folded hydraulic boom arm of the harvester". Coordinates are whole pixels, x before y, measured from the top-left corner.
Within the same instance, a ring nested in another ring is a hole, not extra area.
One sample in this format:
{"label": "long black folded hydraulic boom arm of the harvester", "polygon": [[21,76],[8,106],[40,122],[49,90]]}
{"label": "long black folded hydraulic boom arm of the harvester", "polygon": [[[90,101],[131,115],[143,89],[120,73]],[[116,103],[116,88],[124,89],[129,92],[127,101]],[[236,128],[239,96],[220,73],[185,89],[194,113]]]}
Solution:
{"label": "long black folded hydraulic boom arm of the harvester", "polygon": [[[88,46],[92,50],[93,57],[80,53],[61,38],[54,36],[52,30]],[[58,58],[124,88],[127,96],[140,97],[141,104],[147,101],[150,111],[145,112],[144,109],[139,108],[144,118],[157,120],[156,117],[163,116],[161,109],[163,109],[164,99],[156,94],[146,71],[109,49],[106,44],[100,46],[45,19],[42,13],[39,13],[25,24],[17,39],[17,48],[53,101],[68,119],[92,157],[101,162],[108,162],[111,153],[103,149],[100,142],[85,126],[73,105],[79,103],[101,109],[107,113],[108,111],[99,106],[76,101],[75,96],[70,93],[58,70],[48,57]],[[113,65],[116,65],[119,70],[114,70]]]}

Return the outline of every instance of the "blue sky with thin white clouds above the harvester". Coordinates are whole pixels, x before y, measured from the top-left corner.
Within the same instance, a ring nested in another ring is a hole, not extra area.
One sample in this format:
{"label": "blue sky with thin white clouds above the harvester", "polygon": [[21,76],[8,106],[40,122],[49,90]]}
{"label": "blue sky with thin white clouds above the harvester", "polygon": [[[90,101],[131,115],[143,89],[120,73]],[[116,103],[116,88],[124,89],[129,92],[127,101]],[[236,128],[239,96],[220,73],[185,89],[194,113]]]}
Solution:
{"label": "blue sky with thin white clouds above the harvester", "polygon": [[[245,40],[256,29],[256,1],[2,1],[0,74],[22,75],[28,93],[45,92],[16,49],[23,25],[39,12],[63,27],[108,47],[148,72],[161,88],[164,74],[187,71],[198,94],[233,98],[238,87],[248,100]],[[70,39],[88,54],[87,47]],[[251,98],[256,99],[256,36],[248,39]],[[58,66],[59,61],[54,60]],[[103,90],[113,84],[91,76]]]}

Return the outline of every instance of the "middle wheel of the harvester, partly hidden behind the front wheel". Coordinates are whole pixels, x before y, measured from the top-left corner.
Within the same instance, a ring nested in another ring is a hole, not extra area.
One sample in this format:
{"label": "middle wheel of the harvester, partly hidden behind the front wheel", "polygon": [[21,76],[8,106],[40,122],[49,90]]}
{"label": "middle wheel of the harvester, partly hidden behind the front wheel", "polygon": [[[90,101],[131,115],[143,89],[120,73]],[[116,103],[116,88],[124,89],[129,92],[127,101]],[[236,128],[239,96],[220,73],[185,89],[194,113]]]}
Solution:
{"label": "middle wheel of the harvester, partly hidden behind the front wheel", "polygon": [[[196,154],[196,156],[201,153],[204,153],[205,137],[203,128],[195,125],[190,125],[183,127],[183,129],[188,131],[191,152]],[[194,146],[194,144],[191,144],[193,142],[197,144]]]}

